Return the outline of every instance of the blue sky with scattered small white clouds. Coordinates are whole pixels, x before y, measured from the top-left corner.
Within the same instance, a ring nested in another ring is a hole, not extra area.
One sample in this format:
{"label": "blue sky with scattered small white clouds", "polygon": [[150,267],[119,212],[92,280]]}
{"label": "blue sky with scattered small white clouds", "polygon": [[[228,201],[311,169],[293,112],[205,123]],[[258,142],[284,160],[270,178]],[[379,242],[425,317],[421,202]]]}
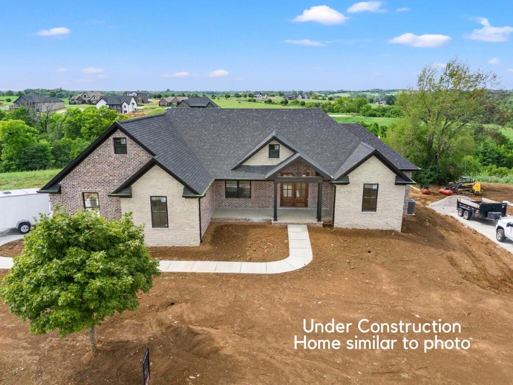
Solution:
{"label": "blue sky with scattered small white clouds", "polygon": [[0,89],[402,88],[455,56],[513,88],[510,0],[48,3],[3,2]]}

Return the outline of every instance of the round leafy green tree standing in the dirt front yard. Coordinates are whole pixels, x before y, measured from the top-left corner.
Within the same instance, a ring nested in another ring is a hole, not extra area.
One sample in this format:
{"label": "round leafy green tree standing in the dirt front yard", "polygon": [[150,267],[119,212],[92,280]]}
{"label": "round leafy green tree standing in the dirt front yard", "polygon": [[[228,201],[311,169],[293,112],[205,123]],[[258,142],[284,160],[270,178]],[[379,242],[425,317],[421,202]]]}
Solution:
{"label": "round leafy green tree standing in the dirt front yard", "polygon": [[95,326],[115,312],[137,309],[137,293],[150,290],[158,264],[131,214],[108,221],[92,211],[57,209],[25,237],[0,297],[10,312],[30,321],[34,334],[57,330],[64,338],[89,329],[95,352]]}

